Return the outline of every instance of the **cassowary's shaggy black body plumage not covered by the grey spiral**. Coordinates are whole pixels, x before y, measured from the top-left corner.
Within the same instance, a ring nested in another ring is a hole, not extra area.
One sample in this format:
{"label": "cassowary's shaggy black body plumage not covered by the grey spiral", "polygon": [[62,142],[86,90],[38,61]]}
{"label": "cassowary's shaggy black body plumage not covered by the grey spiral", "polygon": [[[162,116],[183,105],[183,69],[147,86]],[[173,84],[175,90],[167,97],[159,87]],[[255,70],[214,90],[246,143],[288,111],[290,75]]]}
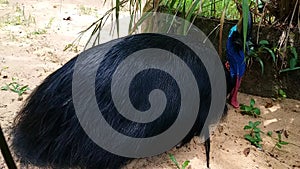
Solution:
{"label": "cassowary's shaggy black body plumage not covered by the grey spiral", "polygon": [[[197,119],[181,145],[189,142],[195,135],[200,135],[210,107],[211,86],[202,62],[194,58],[189,51],[183,50],[180,45],[179,42],[163,35],[139,34],[101,44],[80,54],[98,55],[103,52],[101,49],[110,48],[99,65],[94,92],[105,120],[115,130],[131,137],[150,137],[169,128],[177,118],[180,108],[178,86],[168,74],[155,69],[148,69],[137,74],[128,92],[131,93],[132,104],[137,109],[145,110],[151,106],[147,101],[149,92],[156,88],[163,90],[168,102],[162,117],[147,124],[130,122],[118,114],[111,98],[112,75],[125,59],[124,57],[144,48],[165,48],[182,56],[182,60],[194,71],[200,90],[201,100]],[[75,114],[72,75],[77,59],[78,56],[49,75],[28,97],[15,119],[13,149],[23,161],[40,167],[121,168],[130,158],[112,154],[95,144],[85,133]],[[97,61],[89,60],[88,62]],[[144,63],[133,64],[143,66]],[[184,73],[182,76],[185,76]],[[226,78],[227,82],[231,82],[227,71]],[[231,91],[232,84],[229,83],[227,87],[227,90]],[[88,98],[83,99],[89,102]],[[227,107],[224,111],[227,111]],[[209,139],[205,142],[205,147],[209,167]]]}

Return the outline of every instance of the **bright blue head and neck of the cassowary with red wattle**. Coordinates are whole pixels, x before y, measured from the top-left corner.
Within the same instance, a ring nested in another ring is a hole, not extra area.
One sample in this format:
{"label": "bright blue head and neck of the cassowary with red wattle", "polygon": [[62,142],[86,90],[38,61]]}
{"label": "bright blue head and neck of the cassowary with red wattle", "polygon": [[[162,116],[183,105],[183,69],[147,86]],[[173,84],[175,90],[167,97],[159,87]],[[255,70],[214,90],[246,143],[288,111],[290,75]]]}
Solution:
{"label": "bright blue head and neck of the cassowary with red wattle", "polygon": [[[234,108],[239,107],[237,99],[237,93],[241,85],[242,77],[246,70],[245,53],[243,47],[243,20],[241,19],[237,25],[230,29],[227,44],[226,44],[226,55],[227,62],[226,67],[230,71],[230,76],[235,81],[235,87],[230,93],[229,102]],[[246,37],[246,51],[248,51],[248,43],[251,39],[252,33],[252,15],[249,12],[248,16],[248,28]]]}

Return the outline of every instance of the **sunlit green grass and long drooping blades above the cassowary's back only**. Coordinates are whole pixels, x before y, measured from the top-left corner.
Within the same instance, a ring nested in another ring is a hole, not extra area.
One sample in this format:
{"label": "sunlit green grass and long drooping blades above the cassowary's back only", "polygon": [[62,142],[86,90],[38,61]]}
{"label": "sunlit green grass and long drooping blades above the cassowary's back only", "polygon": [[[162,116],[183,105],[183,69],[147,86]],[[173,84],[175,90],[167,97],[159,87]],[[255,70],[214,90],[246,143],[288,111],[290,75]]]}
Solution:
{"label": "sunlit green grass and long drooping blades above the cassowary's back only", "polygon": [[[106,3],[106,1],[104,2]],[[119,13],[126,7],[130,14],[130,22],[128,26],[128,34],[138,32],[139,26],[145,21],[148,14],[147,12],[164,12],[169,14],[179,15],[191,23],[194,22],[197,16],[205,17],[221,17],[223,11],[226,11],[226,19],[238,19],[240,14],[236,10],[234,1],[230,0],[146,0],[144,6],[142,6],[141,0],[114,0],[111,2],[111,9],[107,10],[97,21],[92,23],[87,29],[80,32],[74,43],[78,43],[81,40],[83,34],[90,29],[93,29],[92,34],[87,44],[92,46],[100,43],[101,30],[107,23],[107,20],[111,18],[113,24],[111,25],[111,33],[119,36]],[[176,22],[172,22],[172,24]],[[185,26],[184,32],[189,29],[189,25]],[[96,36],[96,37],[95,37]],[[91,43],[90,43],[91,42]],[[77,46],[74,44],[74,46]],[[68,47],[71,47],[70,45]],[[86,46],[85,48],[87,48]]]}

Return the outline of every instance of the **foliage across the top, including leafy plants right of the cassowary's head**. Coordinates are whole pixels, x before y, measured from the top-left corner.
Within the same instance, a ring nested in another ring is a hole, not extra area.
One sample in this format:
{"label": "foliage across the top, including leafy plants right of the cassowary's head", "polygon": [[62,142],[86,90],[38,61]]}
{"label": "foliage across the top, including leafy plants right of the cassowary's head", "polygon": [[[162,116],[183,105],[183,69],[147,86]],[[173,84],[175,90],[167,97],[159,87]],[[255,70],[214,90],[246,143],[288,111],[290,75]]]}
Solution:
{"label": "foliage across the top, including leafy plants right of the cassowary's head", "polygon": [[[73,48],[73,46],[78,46],[79,41],[81,40],[84,33],[88,30],[92,29],[92,33],[90,35],[89,40],[86,44],[91,46],[100,44],[101,39],[101,30],[107,24],[107,21],[111,20],[111,35],[117,36],[120,35],[120,23],[119,23],[119,15],[120,11],[126,9],[130,15],[130,22],[128,25],[128,34],[139,33],[141,29],[139,29],[149,17],[149,13],[147,12],[164,12],[168,14],[173,14],[176,16],[180,16],[183,19],[193,23],[198,16],[203,16],[207,18],[220,18],[220,24],[213,30],[220,29],[220,35],[223,34],[223,24],[225,19],[233,20],[239,19],[240,13],[243,16],[248,16],[249,9],[253,11],[259,10],[259,13],[253,12],[255,15],[254,22],[260,22],[259,25],[263,24],[270,24],[274,22],[274,18],[276,17],[274,14],[271,14],[272,11],[269,11],[269,8],[272,6],[278,6],[279,4],[273,4],[273,1],[255,1],[255,0],[113,0],[110,1],[112,6],[111,9],[107,10],[98,20],[93,22],[87,29],[80,32],[80,35],[77,39],[74,40],[72,43],[73,45],[66,46],[66,49]],[[108,1],[104,1],[104,3],[108,3]],[[281,3],[281,2],[280,2]],[[292,3],[292,2],[291,2]],[[145,4],[145,5],[144,5]],[[297,4],[296,4],[297,5]],[[280,5],[279,5],[280,6]],[[294,5],[290,5],[294,6]],[[129,10],[128,10],[129,9]],[[295,8],[296,9],[296,8]],[[84,13],[86,13],[86,9],[84,8]],[[88,10],[89,11],[89,10]],[[87,12],[88,13],[88,12]],[[272,16],[274,15],[274,16]],[[295,17],[296,18],[296,17]],[[283,19],[283,18],[281,18]],[[286,18],[288,19],[288,18]],[[176,24],[175,18],[171,24]],[[248,17],[244,17],[243,19],[243,36],[245,37],[247,34],[247,24],[248,24]],[[148,24],[146,27],[148,27]],[[145,26],[144,25],[144,26]],[[170,25],[171,26],[171,25]],[[259,26],[260,27],[260,26]],[[183,32],[187,32],[189,29],[188,25],[184,25]],[[213,32],[212,31],[212,32]],[[223,38],[220,39],[222,40]],[[289,33],[286,36],[288,39]],[[244,41],[246,39],[244,38]],[[257,34],[257,43],[259,41],[259,31]],[[77,44],[75,44],[77,42]],[[266,40],[261,40],[258,43],[258,48],[253,48],[250,51],[249,55],[246,57],[247,63],[251,63],[252,61],[257,61],[261,66],[261,72],[264,73],[264,63],[261,59],[264,54],[268,53],[272,57],[273,63],[278,62],[278,58],[280,53],[282,53],[282,46],[285,46],[288,40],[284,40],[283,44],[279,47],[270,47],[270,44]],[[220,43],[221,44],[221,43]],[[244,43],[246,44],[246,43]],[[85,46],[85,49],[89,46]],[[221,48],[221,47],[220,47]],[[279,48],[279,49],[278,49]],[[65,50],[66,50],[65,49]],[[222,49],[222,48],[221,48]],[[244,46],[245,49],[245,46]],[[219,54],[221,55],[222,50],[219,50]],[[283,62],[288,62],[289,67],[280,67],[280,73],[291,71],[291,70],[299,70],[300,66],[297,66],[299,63],[298,54],[296,52],[295,47],[290,47],[290,51],[292,53],[291,57],[282,57],[281,60]],[[276,53],[277,52],[277,53]],[[283,51],[283,55],[285,55],[285,50]]]}

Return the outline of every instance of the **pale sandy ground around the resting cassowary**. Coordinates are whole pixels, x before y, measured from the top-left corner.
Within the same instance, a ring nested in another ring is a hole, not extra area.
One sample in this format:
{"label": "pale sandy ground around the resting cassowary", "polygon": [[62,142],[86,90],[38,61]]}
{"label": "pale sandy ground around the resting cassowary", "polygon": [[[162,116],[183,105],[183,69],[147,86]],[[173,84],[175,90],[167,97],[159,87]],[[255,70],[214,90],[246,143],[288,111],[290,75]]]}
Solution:
{"label": "pale sandy ground around the resting cassowary", "polygon": [[[47,75],[77,54],[63,49],[77,37],[78,32],[101,16],[107,6],[92,0],[65,0],[62,4],[57,0],[0,2],[0,86],[15,79],[30,88],[22,95],[23,99],[19,99],[14,92],[0,91],[0,122],[10,142],[13,118],[24,99]],[[63,20],[67,17],[71,20]],[[79,52],[87,37],[84,36],[78,45]],[[300,168],[300,101],[274,101],[246,94],[239,94],[239,98],[244,104],[249,104],[250,99],[254,98],[262,116],[257,119],[243,116],[239,110],[230,107],[228,116],[212,134],[211,168]],[[266,108],[268,103],[271,103],[270,108]],[[288,138],[283,137],[283,140],[293,144],[272,150],[275,142],[263,135],[263,151],[260,151],[243,138],[247,133],[243,127],[248,121],[266,122],[272,119],[277,119],[277,122],[266,126],[261,124],[261,129],[265,132],[284,129]],[[247,148],[250,150],[248,156],[244,154]],[[204,146],[195,137],[181,148],[173,148],[159,156],[133,160],[124,168],[176,168],[168,153],[174,154],[179,163],[189,160],[189,169],[205,168],[204,152]],[[0,168],[7,168],[2,156]]]}

